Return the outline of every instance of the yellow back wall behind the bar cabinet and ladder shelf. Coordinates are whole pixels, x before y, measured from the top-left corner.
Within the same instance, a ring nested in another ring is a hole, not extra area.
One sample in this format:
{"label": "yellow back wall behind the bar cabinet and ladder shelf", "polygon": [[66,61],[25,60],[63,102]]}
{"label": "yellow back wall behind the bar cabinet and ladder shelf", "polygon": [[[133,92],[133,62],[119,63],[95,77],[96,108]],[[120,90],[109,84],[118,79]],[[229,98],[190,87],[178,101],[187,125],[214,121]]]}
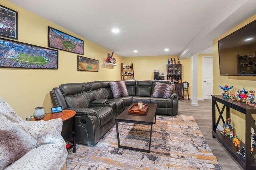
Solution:
{"label": "yellow back wall behind the bar cabinet and ladder shelf", "polygon": [[[198,98],[202,98],[202,56],[198,55]],[[166,64],[168,59],[178,62],[178,55],[174,56],[152,56],[152,57],[123,57],[123,64],[134,66],[134,77],[136,80],[153,80],[154,70],[164,72],[166,80]],[[186,81],[190,84],[189,96],[191,97],[191,58],[180,59],[182,64],[182,82]]]}

